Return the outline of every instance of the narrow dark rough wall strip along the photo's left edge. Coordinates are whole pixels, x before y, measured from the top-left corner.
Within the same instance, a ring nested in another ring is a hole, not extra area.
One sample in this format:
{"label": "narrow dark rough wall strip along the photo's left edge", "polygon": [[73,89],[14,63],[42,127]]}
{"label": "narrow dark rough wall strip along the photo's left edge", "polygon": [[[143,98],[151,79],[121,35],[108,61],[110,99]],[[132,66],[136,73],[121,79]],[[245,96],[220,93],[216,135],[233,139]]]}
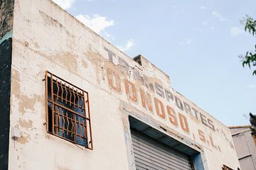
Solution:
{"label": "narrow dark rough wall strip along the photo's left edge", "polygon": [[11,52],[14,0],[0,1],[0,169],[9,162]]}

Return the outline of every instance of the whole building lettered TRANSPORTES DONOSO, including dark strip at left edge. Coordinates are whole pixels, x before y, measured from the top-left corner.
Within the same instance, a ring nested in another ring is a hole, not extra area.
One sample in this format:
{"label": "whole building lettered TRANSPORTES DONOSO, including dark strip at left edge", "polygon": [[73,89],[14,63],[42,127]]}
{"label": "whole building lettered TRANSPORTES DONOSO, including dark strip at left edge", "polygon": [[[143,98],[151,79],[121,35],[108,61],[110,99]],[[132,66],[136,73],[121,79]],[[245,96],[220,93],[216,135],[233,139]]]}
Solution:
{"label": "whole building lettered TRANSPORTES DONOSO, including dark strip at left edge", "polygon": [[230,130],[50,0],[2,0],[0,169],[239,169]]}

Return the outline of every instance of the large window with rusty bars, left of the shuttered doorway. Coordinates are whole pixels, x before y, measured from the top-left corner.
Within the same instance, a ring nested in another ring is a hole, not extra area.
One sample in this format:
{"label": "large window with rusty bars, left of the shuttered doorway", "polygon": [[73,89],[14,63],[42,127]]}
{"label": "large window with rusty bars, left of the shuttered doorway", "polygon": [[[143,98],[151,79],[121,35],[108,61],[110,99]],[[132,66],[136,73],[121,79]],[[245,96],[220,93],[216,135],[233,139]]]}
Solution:
{"label": "large window with rusty bars, left of the shuttered doorway", "polygon": [[48,71],[45,81],[47,132],[92,149],[88,93]]}

